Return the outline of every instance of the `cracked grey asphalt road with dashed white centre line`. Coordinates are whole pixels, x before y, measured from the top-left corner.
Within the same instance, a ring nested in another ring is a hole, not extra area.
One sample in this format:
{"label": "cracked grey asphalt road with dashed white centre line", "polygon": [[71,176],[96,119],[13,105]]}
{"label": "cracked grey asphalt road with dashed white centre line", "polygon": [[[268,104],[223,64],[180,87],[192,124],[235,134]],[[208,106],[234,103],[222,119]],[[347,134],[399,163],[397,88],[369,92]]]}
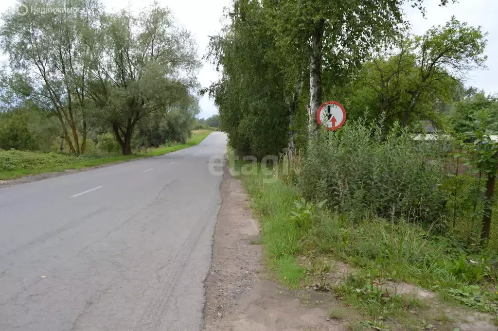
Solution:
{"label": "cracked grey asphalt road with dashed white centre line", "polygon": [[225,146],[0,189],[0,330],[199,330]]}

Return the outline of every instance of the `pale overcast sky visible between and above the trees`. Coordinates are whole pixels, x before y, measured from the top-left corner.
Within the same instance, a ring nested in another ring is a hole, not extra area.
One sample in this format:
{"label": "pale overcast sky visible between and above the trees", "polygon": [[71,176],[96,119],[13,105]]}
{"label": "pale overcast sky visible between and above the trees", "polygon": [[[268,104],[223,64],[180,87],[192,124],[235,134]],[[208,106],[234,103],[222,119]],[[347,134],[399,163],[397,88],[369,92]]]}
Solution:
{"label": "pale overcast sky visible between and above the trees", "polygon": [[[118,10],[129,7],[139,11],[149,5],[153,0],[122,1],[102,0],[108,10]],[[231,0],[158,0],[161,5],[168,6],[181,26],[190,30],[198,45],[199,56],[206,53],[209,36],[215,35],[221,29],[220,19],[223,8]],[[444,24],[452,15],[457,19],[466,21],[470,25],[481,25],[483,30],[489,32],[488,70],[478,70],[468,75],[466,85],[484,89],[487,93],[498,93],[498,1],[495,0],[460,0],[459,3],[439,7],[440,0],[426,0],[426,17],[423,18],[417,9],[406,7],[406,15],[413,27],[413,33],[422,34],[433,25]],[[15,0],[1,0],[0,11],[5,11],[15,4]],[[217,72],[209,63],[204,63],[199,72],[199,82],[203,87],[209,86],[218,78]],[[201,113],[199,117],[209,117],[218,112],[213,102],[207,96],[200,101]]]}

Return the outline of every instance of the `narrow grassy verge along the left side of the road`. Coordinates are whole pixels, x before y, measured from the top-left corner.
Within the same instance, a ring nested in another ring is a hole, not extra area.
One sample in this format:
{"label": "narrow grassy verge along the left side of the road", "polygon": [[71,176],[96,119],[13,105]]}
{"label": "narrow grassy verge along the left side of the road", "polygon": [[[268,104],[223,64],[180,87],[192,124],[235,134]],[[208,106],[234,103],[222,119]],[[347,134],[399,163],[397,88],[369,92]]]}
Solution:
{"label": "narrow grassy verge along the left side of the road", "polygon": [[66,155],[60,153],[41,153],[29,151],[0,151],[0,180],[19,178],[45,172],[61,172],[105,164],[129,161],[136,158],[159,156],[199,144],[212,131],[193,131],[192,137],[184,144],[172,144],[149,148],[132,155]]}

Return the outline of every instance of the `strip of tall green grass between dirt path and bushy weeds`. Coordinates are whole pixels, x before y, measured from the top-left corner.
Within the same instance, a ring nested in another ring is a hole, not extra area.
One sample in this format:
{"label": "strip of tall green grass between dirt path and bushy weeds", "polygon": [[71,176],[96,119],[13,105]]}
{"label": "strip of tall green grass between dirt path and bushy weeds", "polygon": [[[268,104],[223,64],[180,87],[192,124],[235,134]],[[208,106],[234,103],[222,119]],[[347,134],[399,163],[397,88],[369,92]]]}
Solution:
{"label": "strip of tall green grass between dirt path and bushy weeds", "polygon": [[[281,171],[275,172],[281,176]],[[305,277],[296,257],[326,255],[359,268],[372,282],[403,280],[451,300],[461,299],[479,311],[497,309],[496,252],[466,251],[461,242],[438,234],[434,226],[404,219],[393,222],[372,216],[352,222],[345,214],[303,201],[299,188],[282,177],[270,182],[263,178],[242,176],[261,222],[268,265],[289,287],[299,286]]]}

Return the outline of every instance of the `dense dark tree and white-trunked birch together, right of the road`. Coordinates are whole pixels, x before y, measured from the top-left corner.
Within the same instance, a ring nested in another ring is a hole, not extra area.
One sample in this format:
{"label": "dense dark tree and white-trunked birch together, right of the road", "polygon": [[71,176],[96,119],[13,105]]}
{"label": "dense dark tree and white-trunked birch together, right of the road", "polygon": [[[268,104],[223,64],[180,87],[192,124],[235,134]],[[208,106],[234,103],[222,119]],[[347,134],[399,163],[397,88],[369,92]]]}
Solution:
{"label": "dense dark tree and white-trunked birch together, right of the road", "polygon": [[241,153],[263,155],[287,141],[292,147],[294,133],[302,140],[302,118],[295,123],[294,117],[307,108],[314,127],[322,90],[342,86],[393,41],[404,25],[405,3],[424,10],[422,0],[235,1],[210,54],[223,68],[210,92],[231,144]]}

